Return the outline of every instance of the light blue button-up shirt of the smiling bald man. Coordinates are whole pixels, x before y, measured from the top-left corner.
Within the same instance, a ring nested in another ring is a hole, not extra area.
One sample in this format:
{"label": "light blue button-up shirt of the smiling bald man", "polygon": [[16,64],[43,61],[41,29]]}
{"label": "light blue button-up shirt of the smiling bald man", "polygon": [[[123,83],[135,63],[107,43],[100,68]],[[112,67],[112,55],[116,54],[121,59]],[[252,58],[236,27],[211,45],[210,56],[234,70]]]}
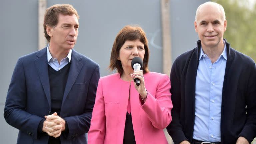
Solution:
{"label": "light blue button-up shirt of the smiling bald man", "polygon": [[202,47],[196,76],[195,124],[193,139],[220,142],[222,87],[227,63],[227,50],[216,62],[204,54]]}

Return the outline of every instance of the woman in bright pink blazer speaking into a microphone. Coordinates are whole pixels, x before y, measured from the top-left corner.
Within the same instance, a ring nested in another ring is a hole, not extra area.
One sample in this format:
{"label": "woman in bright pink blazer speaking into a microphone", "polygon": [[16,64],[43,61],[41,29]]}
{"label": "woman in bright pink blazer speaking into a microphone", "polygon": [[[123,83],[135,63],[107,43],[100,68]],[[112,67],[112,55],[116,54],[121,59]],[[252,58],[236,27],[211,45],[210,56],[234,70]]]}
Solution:
{"label": "woman in bright pink blazer speaking into a microphone", "polygon": [[[143,60],[142,70],[132,69],[134,57]],[[149,72],[148,59],[148,40],[142,28],[122,28],[109,66],[118,73],[99,80],[88,144],[167,144],[163,129],[172,120],[170,79]],[[139,86],[134,78],[140,80]]]}

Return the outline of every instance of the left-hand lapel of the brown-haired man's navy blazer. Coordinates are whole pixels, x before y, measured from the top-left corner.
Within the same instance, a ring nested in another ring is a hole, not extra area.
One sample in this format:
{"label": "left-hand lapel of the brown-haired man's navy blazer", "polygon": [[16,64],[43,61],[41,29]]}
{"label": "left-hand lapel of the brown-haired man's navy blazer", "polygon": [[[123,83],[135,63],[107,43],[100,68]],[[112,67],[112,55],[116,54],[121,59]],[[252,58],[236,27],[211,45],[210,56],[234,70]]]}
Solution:
{"label": "left-hand lapel of the brown-haired man's navy blazer", "polygon": [[51,96],[50,96],[50,82],[48,76],[48,63],[47,63],[47,51],[46,48],[40,50],[37,53],[38,59],[35,60],[36,69],[40,77],[46,98],[49,106],[51,107]]}

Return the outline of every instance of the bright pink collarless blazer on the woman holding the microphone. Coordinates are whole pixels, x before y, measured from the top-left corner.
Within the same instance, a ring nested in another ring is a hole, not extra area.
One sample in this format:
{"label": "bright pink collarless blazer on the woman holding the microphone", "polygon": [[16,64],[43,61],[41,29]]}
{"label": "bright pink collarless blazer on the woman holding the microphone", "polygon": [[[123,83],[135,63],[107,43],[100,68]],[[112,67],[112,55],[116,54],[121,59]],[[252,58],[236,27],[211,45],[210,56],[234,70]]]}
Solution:
{"label": "bright pink collarless blazer on the woman holding the microphone", "polygon": [[[142,105],[131,83],[130,102],[136,144],[167,144],[163,129],[171,122],[170,79],[167,75],[148,72],[144,75],[148,91]],[[92,112],[88,144],[122,144],[130,82],[120,74],[101,77]]]}

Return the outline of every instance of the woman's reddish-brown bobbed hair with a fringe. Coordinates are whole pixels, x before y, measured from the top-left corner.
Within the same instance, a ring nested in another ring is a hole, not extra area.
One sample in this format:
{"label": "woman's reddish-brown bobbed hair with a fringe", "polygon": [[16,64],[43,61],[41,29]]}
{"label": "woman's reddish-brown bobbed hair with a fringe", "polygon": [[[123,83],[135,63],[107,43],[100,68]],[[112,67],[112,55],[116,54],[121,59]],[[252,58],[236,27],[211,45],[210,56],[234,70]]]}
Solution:
{"label": "woman's reddish-brown bobbed hair with a fringe", "polygon": [[144,49],[145,49],[145,55],[143,58],[143,73],[145,74],[146,72],[149,72],[148,70],[148,60],[149,60],[149,49],[148,49],[148,39],[146,37],[146,33],[144,30],[139,27],[139,26],[131,26],[127,25],[123,27],[117,34],[116,39],[114,41],[112,51],[111,51],[111,56],[110,56],[110,65],[109,69],[110,70],[117,70],[118,73],[120,73],[120,76],[123,74],[123,67],[121,64],[121,61],[118,60],[117,58],[119,57],[119,51],[125,41],[130,40],[139,40],[144,44]]}

